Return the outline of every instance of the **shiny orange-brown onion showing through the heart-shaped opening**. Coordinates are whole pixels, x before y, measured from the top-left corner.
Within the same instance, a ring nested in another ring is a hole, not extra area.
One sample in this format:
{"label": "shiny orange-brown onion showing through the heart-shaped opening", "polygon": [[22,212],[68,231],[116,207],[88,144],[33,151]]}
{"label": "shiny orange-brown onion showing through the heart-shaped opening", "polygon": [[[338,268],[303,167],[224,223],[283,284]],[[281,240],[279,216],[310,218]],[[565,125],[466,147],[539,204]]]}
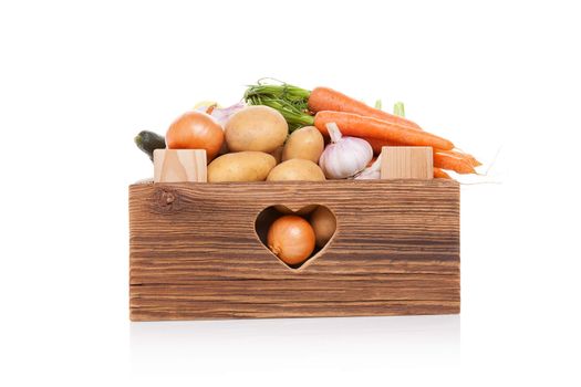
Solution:
{"label": "shiny orange-brown onion showing through the heart-shaped opening", "polygon": [[277,219],[267,234],[268,248],[287,264],[304,262],[314,250],[314,231],[295,215]]}

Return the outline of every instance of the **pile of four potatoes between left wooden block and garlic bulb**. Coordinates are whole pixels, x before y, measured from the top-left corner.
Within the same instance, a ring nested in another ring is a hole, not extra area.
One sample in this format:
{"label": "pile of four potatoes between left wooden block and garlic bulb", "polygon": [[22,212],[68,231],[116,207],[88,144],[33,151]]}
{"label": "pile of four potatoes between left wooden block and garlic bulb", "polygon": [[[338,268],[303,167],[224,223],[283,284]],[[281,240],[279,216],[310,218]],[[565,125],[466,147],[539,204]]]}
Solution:
{"label": "pile of four potatoes between left wooden block and garlic bulb", "polygon": [[230,153],[208,165],[208,181],[324,180],[317,164],[324,149],[321,133],[313,126],[288,133],[287,121],[276,109],[245,107],[225,126]]}

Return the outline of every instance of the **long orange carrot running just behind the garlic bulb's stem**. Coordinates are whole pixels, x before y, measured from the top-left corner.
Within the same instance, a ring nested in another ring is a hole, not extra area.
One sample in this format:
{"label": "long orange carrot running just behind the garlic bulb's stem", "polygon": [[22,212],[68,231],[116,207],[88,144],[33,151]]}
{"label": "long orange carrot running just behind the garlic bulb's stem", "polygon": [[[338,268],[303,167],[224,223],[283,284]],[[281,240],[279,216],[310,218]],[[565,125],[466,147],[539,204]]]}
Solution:
{"label": "long orange carrot running just behind the garlic bulb's stem", "polygon": [[314,126],[325,136],[329,135],[325,125],[330,123],[335,123],[345,136],[373,137],[402,145],[430,146],[444,150],[454,148],[454,144],[445,138],[373,117],[342,112],[319,112],[314,116]]}

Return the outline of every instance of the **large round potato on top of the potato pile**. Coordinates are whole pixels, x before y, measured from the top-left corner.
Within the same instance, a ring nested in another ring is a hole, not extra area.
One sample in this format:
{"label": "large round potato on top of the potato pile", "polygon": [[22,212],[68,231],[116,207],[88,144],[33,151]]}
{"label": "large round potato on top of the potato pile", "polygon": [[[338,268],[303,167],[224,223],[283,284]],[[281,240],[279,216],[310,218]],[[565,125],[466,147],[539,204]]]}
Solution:
{"label": "large round potato on top of the potato pile", "polygon": [[267,154],[282,146],[289,125],[276,109],[268,106],[248,106],[228,119],[226,144],[230,151],[256,150]]}

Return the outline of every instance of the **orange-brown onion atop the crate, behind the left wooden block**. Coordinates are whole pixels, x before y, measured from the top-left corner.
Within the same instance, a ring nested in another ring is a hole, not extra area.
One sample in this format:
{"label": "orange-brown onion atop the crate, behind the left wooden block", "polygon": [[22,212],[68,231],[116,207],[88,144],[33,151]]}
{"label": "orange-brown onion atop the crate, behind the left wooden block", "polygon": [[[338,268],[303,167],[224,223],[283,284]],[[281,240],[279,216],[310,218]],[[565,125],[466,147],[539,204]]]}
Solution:
{"label": "orange-brown onion atop the crate, behind the left wooden block", "polygon": [[208,161],[214,159],[224,144],[224,130],[206,113],[188,112],[167,129],[168,149],[206,149]]}

